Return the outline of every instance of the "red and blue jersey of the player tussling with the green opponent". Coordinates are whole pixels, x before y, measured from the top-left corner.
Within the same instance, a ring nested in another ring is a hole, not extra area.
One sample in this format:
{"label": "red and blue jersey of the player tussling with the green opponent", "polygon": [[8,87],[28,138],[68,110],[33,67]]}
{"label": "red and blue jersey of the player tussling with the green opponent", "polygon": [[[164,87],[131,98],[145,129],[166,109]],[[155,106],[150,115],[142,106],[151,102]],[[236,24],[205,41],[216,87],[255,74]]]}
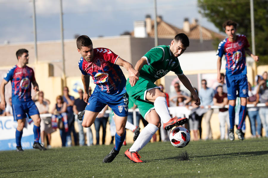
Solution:
{"label": "red and blue jersey of the player tussling with the green opponent", "polygon": [[79,60],[79,69],[83,75],[91,75],[96,90],[102,91],[104,94],[124,94],[126,93],[126,78],[116,60],[118,55],[107,48],[95,48],[94,58],[88,62],[83,59]]}

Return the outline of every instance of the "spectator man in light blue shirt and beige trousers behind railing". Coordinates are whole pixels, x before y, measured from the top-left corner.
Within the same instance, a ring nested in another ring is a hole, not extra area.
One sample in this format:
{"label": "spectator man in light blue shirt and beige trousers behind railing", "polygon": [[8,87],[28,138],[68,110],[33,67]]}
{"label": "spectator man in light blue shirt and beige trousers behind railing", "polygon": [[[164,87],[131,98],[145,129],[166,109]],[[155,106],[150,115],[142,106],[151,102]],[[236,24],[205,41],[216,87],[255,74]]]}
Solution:
{"label": "spectator man in light blue shirt and beige trousers behind railing", "polygon": [[212,139],[210,119],[213,112],[211,105],[213,105],[214,90],[207,87],[207,81],[203,79],[201,81],[202,88],[199,91],[200,108],[206,108],[207,112],[203,115],[206,124],[206,140]]}

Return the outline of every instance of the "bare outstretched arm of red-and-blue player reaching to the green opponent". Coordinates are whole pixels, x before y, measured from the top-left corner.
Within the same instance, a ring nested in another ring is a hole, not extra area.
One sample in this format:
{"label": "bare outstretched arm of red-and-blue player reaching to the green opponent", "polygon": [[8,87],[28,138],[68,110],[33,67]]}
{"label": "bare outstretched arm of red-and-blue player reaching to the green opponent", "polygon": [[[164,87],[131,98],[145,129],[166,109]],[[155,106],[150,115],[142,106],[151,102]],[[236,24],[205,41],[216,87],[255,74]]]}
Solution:
{"label": "bare outstretched arm of red-and-blue player reaching to the green opponent", "polygon": [[130,81],[130,85],[133,87],[136,84],[137,80],[139,80],[139,72],[133,68],[131,63],[125,61],[120,57],[118,57],[115,64],[123,66],[125,69],[127,69],[127,71],[129,72],[128,78]]}

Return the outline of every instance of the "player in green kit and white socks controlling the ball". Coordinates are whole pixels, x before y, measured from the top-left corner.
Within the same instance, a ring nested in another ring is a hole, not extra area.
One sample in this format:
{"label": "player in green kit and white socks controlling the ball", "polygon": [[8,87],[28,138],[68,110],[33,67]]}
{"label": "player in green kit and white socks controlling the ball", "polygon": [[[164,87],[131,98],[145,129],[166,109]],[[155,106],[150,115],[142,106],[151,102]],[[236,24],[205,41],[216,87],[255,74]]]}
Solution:
{"label": "player in green kit and white socks controlling the ball", "polygon": [[[143,162],[138,155],[161,127],[161,120],[165,130],[170,130],[175,125],[183,125],[187,118],[171,118],[166,102],[165,93],[161,92],[154,83],[165,76],[169,71],[174,71],[183,85],[192,93],[196,105],[200,99],[180,68],[178,58],[189,46],[186,34],[177,34],[169,46],[161,45],[149,50],[135,65],[135,70],[140,73],[139,80],[129,77],[127,80],[127,94],[139,108],[141,115],[148,121],[148,125],[139,134],[134,144],[125,152],[125,156],[135,163]],[[133,87],[132,87],[133,86]]]}

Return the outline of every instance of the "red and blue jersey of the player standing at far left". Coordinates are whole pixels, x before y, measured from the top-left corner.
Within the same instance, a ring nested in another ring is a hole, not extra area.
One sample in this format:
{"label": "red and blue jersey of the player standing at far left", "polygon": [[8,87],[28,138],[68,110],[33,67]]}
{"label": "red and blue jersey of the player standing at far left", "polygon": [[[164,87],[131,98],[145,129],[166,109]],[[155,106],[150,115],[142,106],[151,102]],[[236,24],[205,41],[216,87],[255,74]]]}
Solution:
{"label": "red and blue jersey of the player standing at far left", "polygon": [[32,68],[28,66],[20,68],[15,65],[7,71],[4,80],[11,81],[12,104],[32,100],[32,82],[35,81],[35,73]]}

